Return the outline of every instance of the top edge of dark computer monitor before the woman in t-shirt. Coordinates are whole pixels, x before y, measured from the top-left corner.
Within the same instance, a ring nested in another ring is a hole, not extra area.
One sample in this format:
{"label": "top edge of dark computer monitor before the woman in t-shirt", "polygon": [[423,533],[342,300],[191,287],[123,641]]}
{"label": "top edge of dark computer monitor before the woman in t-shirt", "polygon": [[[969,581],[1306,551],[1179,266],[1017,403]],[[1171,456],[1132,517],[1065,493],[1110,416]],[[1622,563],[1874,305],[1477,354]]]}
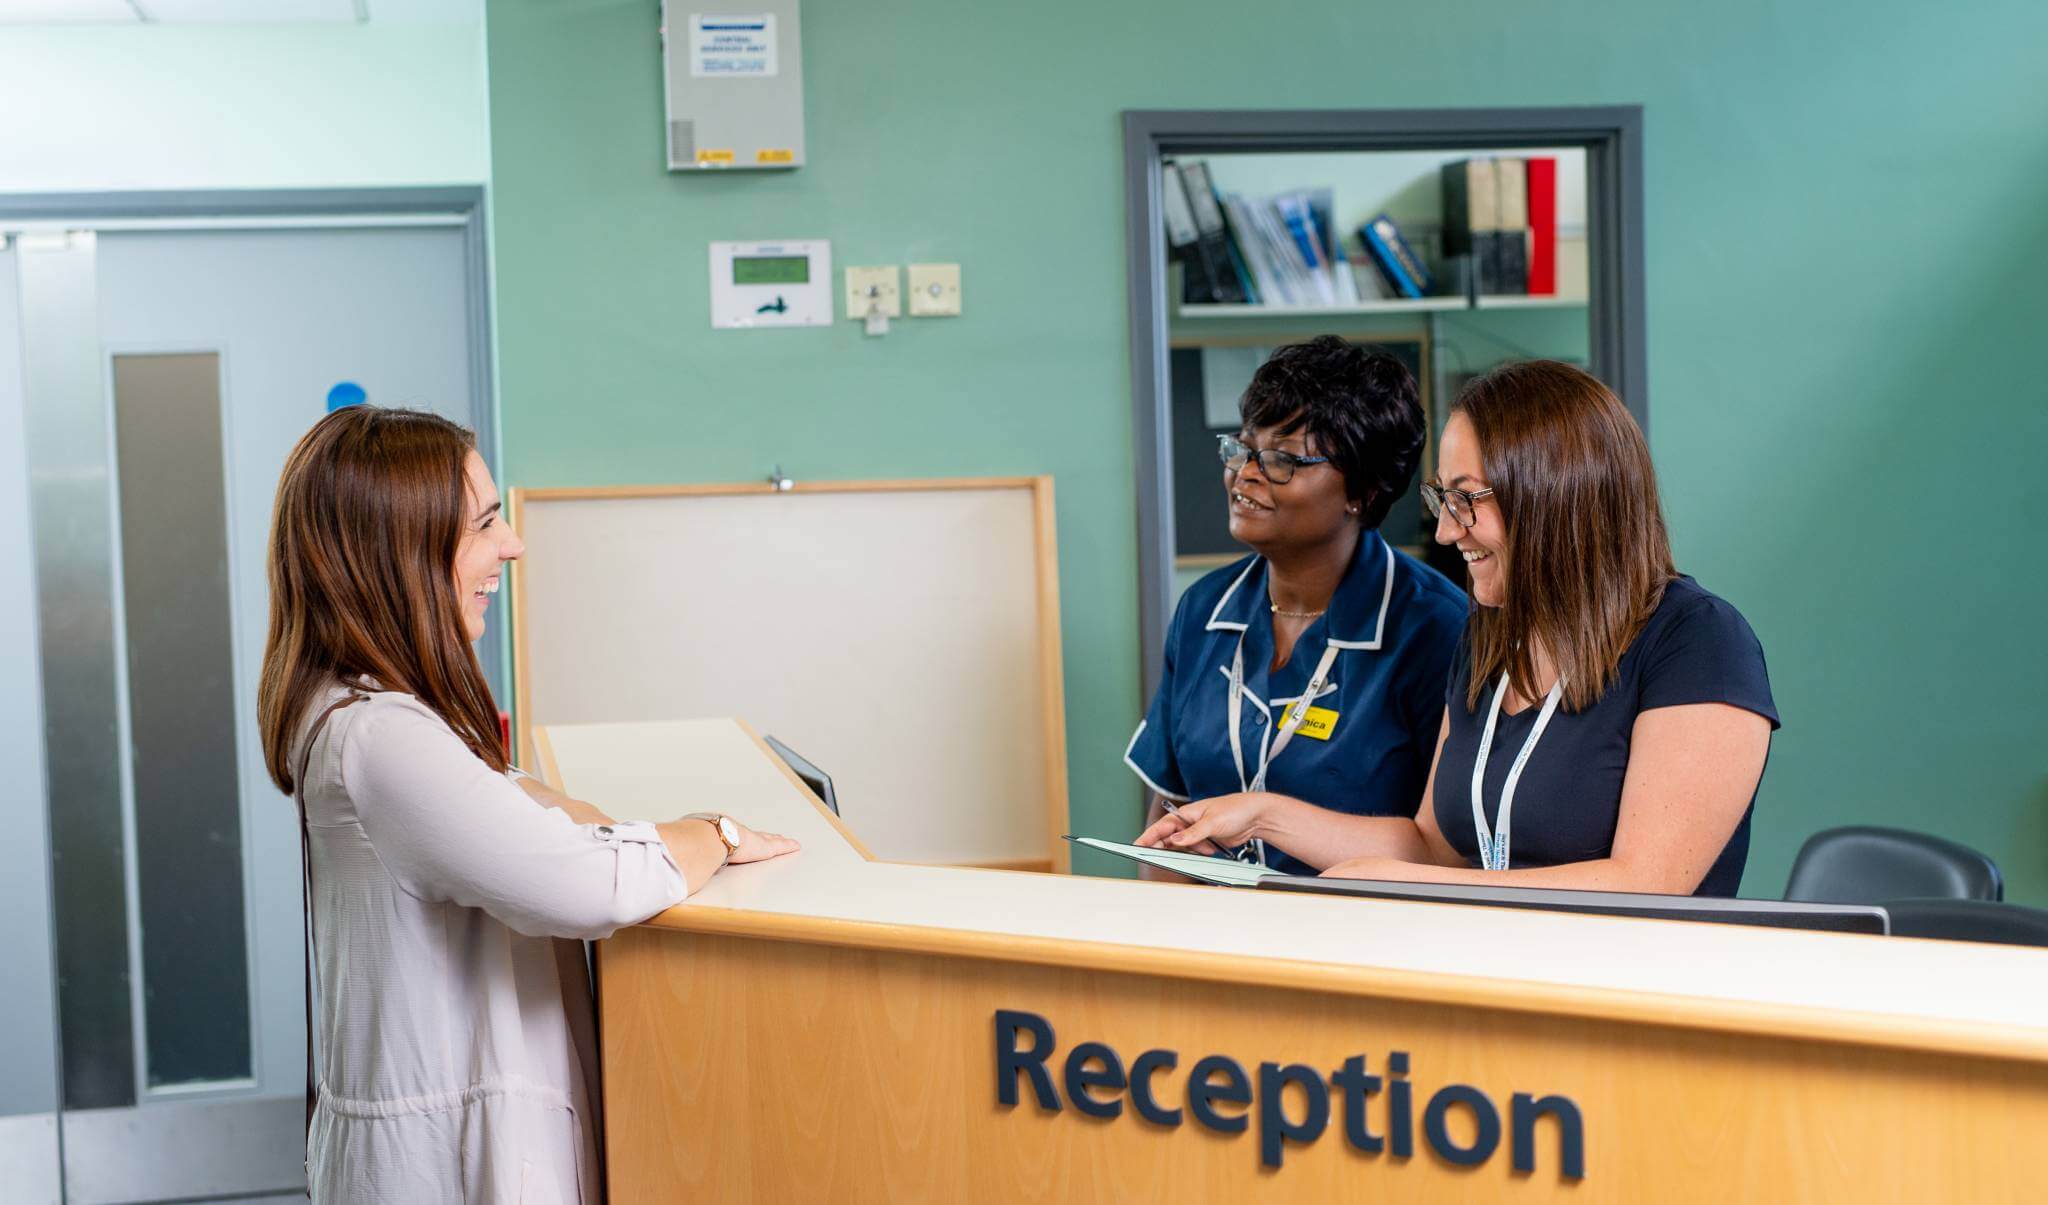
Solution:
{"label": "top edge of dark computer monitor before the woman in t-shirt", "polygon": [[1565,891],[1556,887],[1452,887],[1446,883],[1309,879],[1296,875],[1272,875],[1260,879],[1257,887],[1262,891],[1311,891],[1319,896],[1366,896],[1372,900],[1485,904],[1493,908],[1540,908],[1544,912],[1595,912],[1602,916],[1647,916],[1653,920],[1710,920],[1716,924],[1890,934],[1890,916],[1874,904],[1788,904],[1782,900],[1638,896],[1630,891]]}

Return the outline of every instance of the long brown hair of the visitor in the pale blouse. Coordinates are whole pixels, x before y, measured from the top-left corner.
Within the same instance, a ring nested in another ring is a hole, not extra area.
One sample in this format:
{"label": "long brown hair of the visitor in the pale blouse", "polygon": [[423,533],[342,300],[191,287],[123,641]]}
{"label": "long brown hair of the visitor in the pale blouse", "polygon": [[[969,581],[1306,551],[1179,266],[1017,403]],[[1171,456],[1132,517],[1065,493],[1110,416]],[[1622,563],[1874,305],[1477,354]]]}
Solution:
{"label": "long brown hair of the visitor in the pale blouse", "polygon": [[270,637],[256,689],[264,766],[287,795],[299,725],[336,678],[416,697],[504,773],[498,705],[455,596],[473,447],[438,414],[350,406],[291,449],[270,516]]}

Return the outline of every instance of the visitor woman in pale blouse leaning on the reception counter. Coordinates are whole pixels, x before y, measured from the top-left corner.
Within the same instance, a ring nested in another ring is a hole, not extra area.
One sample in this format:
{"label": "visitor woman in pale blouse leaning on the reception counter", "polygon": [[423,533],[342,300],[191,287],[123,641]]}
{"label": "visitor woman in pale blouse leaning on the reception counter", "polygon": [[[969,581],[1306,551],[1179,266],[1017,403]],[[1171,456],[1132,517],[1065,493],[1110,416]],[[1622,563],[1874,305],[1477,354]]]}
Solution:
{"label": "visitor woman in pale blouse leaning on the reception counter", "polygon": [[311,873],[313,1201],[598,1201],[580,939],[797,848],[612,822],[510,768],[471,641],[522,551],[434,414],[338,410],[285,463],[258,709]]}

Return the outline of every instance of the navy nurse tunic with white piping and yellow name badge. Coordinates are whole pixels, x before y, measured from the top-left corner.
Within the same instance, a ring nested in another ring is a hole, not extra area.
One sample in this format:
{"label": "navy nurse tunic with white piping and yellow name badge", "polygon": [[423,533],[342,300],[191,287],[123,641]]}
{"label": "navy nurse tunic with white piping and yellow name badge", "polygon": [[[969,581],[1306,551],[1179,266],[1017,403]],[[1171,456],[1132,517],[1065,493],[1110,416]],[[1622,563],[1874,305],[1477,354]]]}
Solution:
{"label": "navy nurse tunic with white piping and yellow name badge", "polygon": [[[1247,791],[1274,725],[1335,646],[1329,680],[1313,701],[1321,709],[1311,713],[1317,723],[1305,723],[1272,758],[1266,789],[1354,816],[1415,816],[1444,715],[1444,678],[1464,633],[1464,590],[1368,531],[1327,613],[1272,670],[1266,572],[1266,557],[1251,555],[1182,594],[1167,627],[1165,676],[1124,762],[1176,803]],[[1233,754],[1231,660],[1239,641],[1245,695]],[[1315,873],[1276,846],[1268,846],[1266,861]]]}

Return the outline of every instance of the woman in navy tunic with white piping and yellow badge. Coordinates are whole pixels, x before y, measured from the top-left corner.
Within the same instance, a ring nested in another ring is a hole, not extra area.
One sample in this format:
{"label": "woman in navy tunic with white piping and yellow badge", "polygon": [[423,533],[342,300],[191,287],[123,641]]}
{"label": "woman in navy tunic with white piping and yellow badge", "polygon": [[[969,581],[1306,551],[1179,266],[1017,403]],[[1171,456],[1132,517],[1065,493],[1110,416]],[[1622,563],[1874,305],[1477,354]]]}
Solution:
{"label": "woman in navy tunic with white piping and yellow badge", "polygon": [[[1219,439],[1231,535],[1196,582],[1124,762],[1169,807],[1245,791],[1407,822],[1421,799],[1466,600],[1378,533],[1415,475],[1423,412],[1401,361],[1333,336],[1284,346]],[[1286,840],[1241,853],[1313,873]]]}

